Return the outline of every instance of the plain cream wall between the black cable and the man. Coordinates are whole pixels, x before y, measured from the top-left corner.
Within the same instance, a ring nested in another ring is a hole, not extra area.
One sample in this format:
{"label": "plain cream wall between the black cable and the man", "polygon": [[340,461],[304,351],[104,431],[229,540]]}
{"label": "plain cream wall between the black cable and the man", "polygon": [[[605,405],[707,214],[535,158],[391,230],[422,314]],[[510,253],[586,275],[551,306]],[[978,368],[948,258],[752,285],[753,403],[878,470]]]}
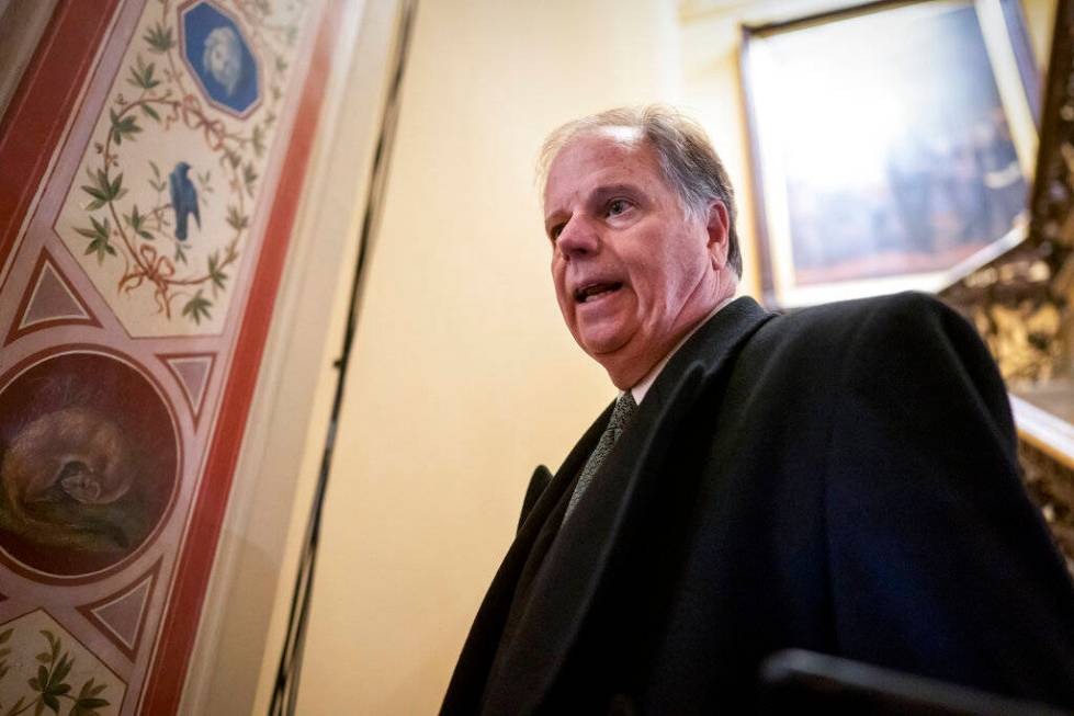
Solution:
{"label": "plain cream wall between the black cable and the man", "polygon": [[676,100],[672,10],[420,3],[298,713],[438,708],[530,471],[613,396],[562,327],[533,160],[557,123]]}

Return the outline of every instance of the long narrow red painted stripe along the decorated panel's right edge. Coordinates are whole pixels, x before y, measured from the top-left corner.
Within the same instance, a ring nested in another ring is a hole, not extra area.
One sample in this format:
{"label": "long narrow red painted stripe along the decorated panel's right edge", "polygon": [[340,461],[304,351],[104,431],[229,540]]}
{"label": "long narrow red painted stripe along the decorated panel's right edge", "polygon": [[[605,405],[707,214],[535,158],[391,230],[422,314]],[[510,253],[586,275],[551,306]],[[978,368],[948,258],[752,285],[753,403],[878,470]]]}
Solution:
{"label": "long narrow red painted stripe along the decorated panel's right edge", "polygon": [[[142,702],[143,714],[174,714],[182,697],[231,478],[257,385],[257,366],[260,365],[264,351],[276,289],[309,163],[343,1],[328,0],[317,31],[306,84],[291,130],[291,146],[283,162],[287,170],[282,173],[276,186],[261,255],[258,258],[252,282],[258,288],[250,295],[239,331],[216,422],[218,429],[210,447],[202,477],[203,487],[195,498],[186,532],[186,545],[180,555],[179,568],[172,582],[171,601],[157,641],[157,658],[149,672]],[[212,485],[214,489],[205,489],[207,485]]]}

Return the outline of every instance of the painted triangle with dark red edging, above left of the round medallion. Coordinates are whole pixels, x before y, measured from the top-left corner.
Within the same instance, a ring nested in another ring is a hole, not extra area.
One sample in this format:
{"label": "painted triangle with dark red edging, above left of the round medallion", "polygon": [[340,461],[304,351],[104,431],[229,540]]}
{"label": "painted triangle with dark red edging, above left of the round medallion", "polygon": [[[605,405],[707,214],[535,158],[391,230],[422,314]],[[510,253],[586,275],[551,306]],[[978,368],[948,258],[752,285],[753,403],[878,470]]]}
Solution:
{"label": "painted triangle with dark red edging, above left of the round medallion", "polygon": [[5,343],[42,328],[70,323],[100,326],[48,251],[42,251]]}

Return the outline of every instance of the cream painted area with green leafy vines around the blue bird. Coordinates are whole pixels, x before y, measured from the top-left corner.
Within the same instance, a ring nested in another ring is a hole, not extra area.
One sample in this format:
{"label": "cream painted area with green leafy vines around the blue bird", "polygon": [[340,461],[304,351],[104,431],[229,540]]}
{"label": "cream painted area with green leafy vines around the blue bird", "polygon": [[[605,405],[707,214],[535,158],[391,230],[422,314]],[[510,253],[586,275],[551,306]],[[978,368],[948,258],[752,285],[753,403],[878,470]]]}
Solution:
{"label": "cream painted area with green leafy vines around the blue bird", "polygon": [[[297,30],[294,24],[274,24],[273,8],[264,0],[237,3],[247,41],[261,58],[260,92],[265,102],[257,121],[237,132],[192,87],[194,80],[179,57],[172,0],[157,2],[160,19],[139,38],[142,52],[125,68],[126,84],[133,94],[116,94],[108,109],[106,133],[94,143],[100,159],[86,168],[87,181],[80,186],[88,197],[88,223],[75,230],[88,240],[83,253],[94,255],[99,264],[123,262],[117,292],[149,291],[158,314],[171,319],[179,308],[185,320],[200,325],[212,318],[249,232],[265,140],[279,118],[286,49],[294,46]],[[156,162],[149,161],[148,189],[129,192],[118,148],[155,134],[147,132],[147,126],[168,133],[178,125],[200,135],[216,155],[217,166],[194,171],[192,182],[186,174],[191,168],[185,162],[166,175]],[[185,242],[186,223],[192,215],[201,227],[199,206],[218,201],[213,196],[218,181],[223,182],[219,196],[226,202],[228,236],[205,237],[221,248],[200,265],[193,265]],[[134,201],[135,193],[142,198],[142,206]]]}

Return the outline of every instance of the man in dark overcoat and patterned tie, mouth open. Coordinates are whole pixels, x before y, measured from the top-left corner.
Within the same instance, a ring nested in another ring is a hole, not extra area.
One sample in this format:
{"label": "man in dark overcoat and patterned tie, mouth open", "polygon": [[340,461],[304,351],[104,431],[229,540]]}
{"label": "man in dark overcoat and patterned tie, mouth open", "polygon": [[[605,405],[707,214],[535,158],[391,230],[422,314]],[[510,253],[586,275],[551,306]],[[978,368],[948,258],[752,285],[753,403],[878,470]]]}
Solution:
{"label": "man in dark overcoat and patterned tie, mouth open", "polygon": [[1074,707],[1074,589],[973,329],[735,299],[731,184],[674,111],[544,157],[559,308],[620,395],[534,474],[443,713],[749,713],[787,648]]}

